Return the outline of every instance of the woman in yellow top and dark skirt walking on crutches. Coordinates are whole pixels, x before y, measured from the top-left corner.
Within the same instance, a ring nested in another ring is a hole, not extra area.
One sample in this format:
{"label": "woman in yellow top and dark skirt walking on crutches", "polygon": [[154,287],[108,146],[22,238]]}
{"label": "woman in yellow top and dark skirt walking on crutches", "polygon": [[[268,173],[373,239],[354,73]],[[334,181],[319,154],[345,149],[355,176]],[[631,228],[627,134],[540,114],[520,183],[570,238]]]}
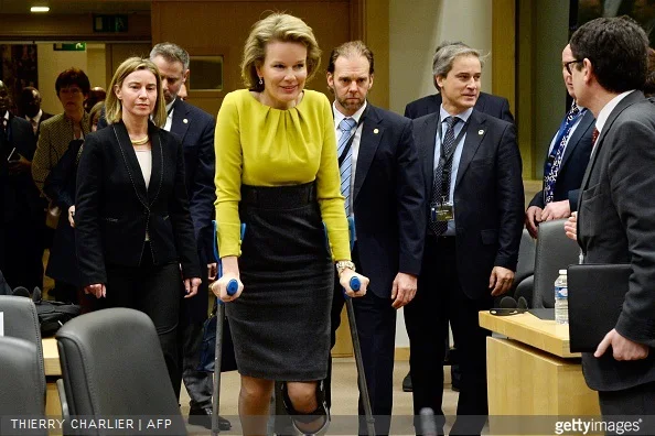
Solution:
{"label": "woman in yellow top and dark skirt walking on crutches", "polygon": [[[249,89],[228,94],[216,122],[223,277],[212,291],[230,302],[246,435],[265,434],[273,381],[283,382],[284,405],[302,433],[328,424],[320,381],[328,373],[333,259],[348,295],[363,296],[368,284],[350,262],[330,102],[303,90],[320,54],[302,20],[275,13],[257,22],[241,63]],[[348,285],[354,275],[357,294]],[[232,279],[239,290],[228,296]]]}

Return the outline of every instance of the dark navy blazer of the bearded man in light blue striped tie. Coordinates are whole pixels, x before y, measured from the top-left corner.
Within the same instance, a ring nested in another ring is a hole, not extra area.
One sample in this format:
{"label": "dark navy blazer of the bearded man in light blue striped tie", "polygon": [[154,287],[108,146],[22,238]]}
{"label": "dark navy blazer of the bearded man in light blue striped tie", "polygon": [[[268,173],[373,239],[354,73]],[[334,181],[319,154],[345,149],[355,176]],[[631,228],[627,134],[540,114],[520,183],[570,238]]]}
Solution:
{"label": "dark navy blazer of the bearded man in light blue striped tie", "polygon": [[420,273],[427,218],[422,186],[411,121],[368,103],[353,208],[362,273],[380,298],[389,298],[398,272]]}

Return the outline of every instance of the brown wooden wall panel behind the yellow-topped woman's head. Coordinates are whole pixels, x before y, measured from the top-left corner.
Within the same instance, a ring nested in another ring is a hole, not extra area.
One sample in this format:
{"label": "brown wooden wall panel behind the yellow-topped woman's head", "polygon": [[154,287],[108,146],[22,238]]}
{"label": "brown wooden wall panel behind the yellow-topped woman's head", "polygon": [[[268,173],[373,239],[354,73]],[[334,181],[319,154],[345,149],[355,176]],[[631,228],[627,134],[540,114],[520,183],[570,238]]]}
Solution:
{"label": "brown wooden wall panel behind the yellow-topped woman's head", "polygon": [[351,3],[343,1],[162,1],[152,2],[152,43],[170,41],[193,55],[224,56],[224,90],[194,91],[191,72],[190,102],[212,115],[225,94],[243,87],[239,63],[251,25],[267,11],[283,11],[303,19],[314,31],[323,56],[308,88],[330,96],[325,67],[332,47],[351,37]]}

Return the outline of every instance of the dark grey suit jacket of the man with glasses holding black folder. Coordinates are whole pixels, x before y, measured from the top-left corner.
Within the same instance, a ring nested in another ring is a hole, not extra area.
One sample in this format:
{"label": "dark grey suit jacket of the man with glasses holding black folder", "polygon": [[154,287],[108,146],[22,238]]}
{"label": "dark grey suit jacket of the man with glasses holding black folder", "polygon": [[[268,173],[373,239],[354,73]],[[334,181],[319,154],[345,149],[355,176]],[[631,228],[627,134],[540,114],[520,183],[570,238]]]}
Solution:
{"label": "dark grey suit jacket of the man with glasses holding black folder", "polygon": [[[615,329],[648,347],[655,347],[654,138],[655,106],[641,91],[627,95],[598,138],[578,205],[578,242],[584,263],[632,265]],[[653,351],[635,361],[616,361],[611,349],[600,359],[582,353],[587,384],[616,391],[655,381]]]}

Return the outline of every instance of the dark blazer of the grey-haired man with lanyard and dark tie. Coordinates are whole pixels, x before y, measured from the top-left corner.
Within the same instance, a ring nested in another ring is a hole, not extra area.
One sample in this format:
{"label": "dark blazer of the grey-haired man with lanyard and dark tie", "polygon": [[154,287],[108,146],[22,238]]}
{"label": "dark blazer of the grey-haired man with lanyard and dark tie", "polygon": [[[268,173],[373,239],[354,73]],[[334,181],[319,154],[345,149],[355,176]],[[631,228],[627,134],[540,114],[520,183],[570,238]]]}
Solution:
{"label": "dark blazer of the grey-haired man with lanyard and dark tie", "polygon": [[[431,193],[439,112],[412,122],[425,189]],[[520,172],[514,124],[473,109],[453,196],[458,275],[470,298],[490,297],[494,266],[516,270],[525,206]]]}

